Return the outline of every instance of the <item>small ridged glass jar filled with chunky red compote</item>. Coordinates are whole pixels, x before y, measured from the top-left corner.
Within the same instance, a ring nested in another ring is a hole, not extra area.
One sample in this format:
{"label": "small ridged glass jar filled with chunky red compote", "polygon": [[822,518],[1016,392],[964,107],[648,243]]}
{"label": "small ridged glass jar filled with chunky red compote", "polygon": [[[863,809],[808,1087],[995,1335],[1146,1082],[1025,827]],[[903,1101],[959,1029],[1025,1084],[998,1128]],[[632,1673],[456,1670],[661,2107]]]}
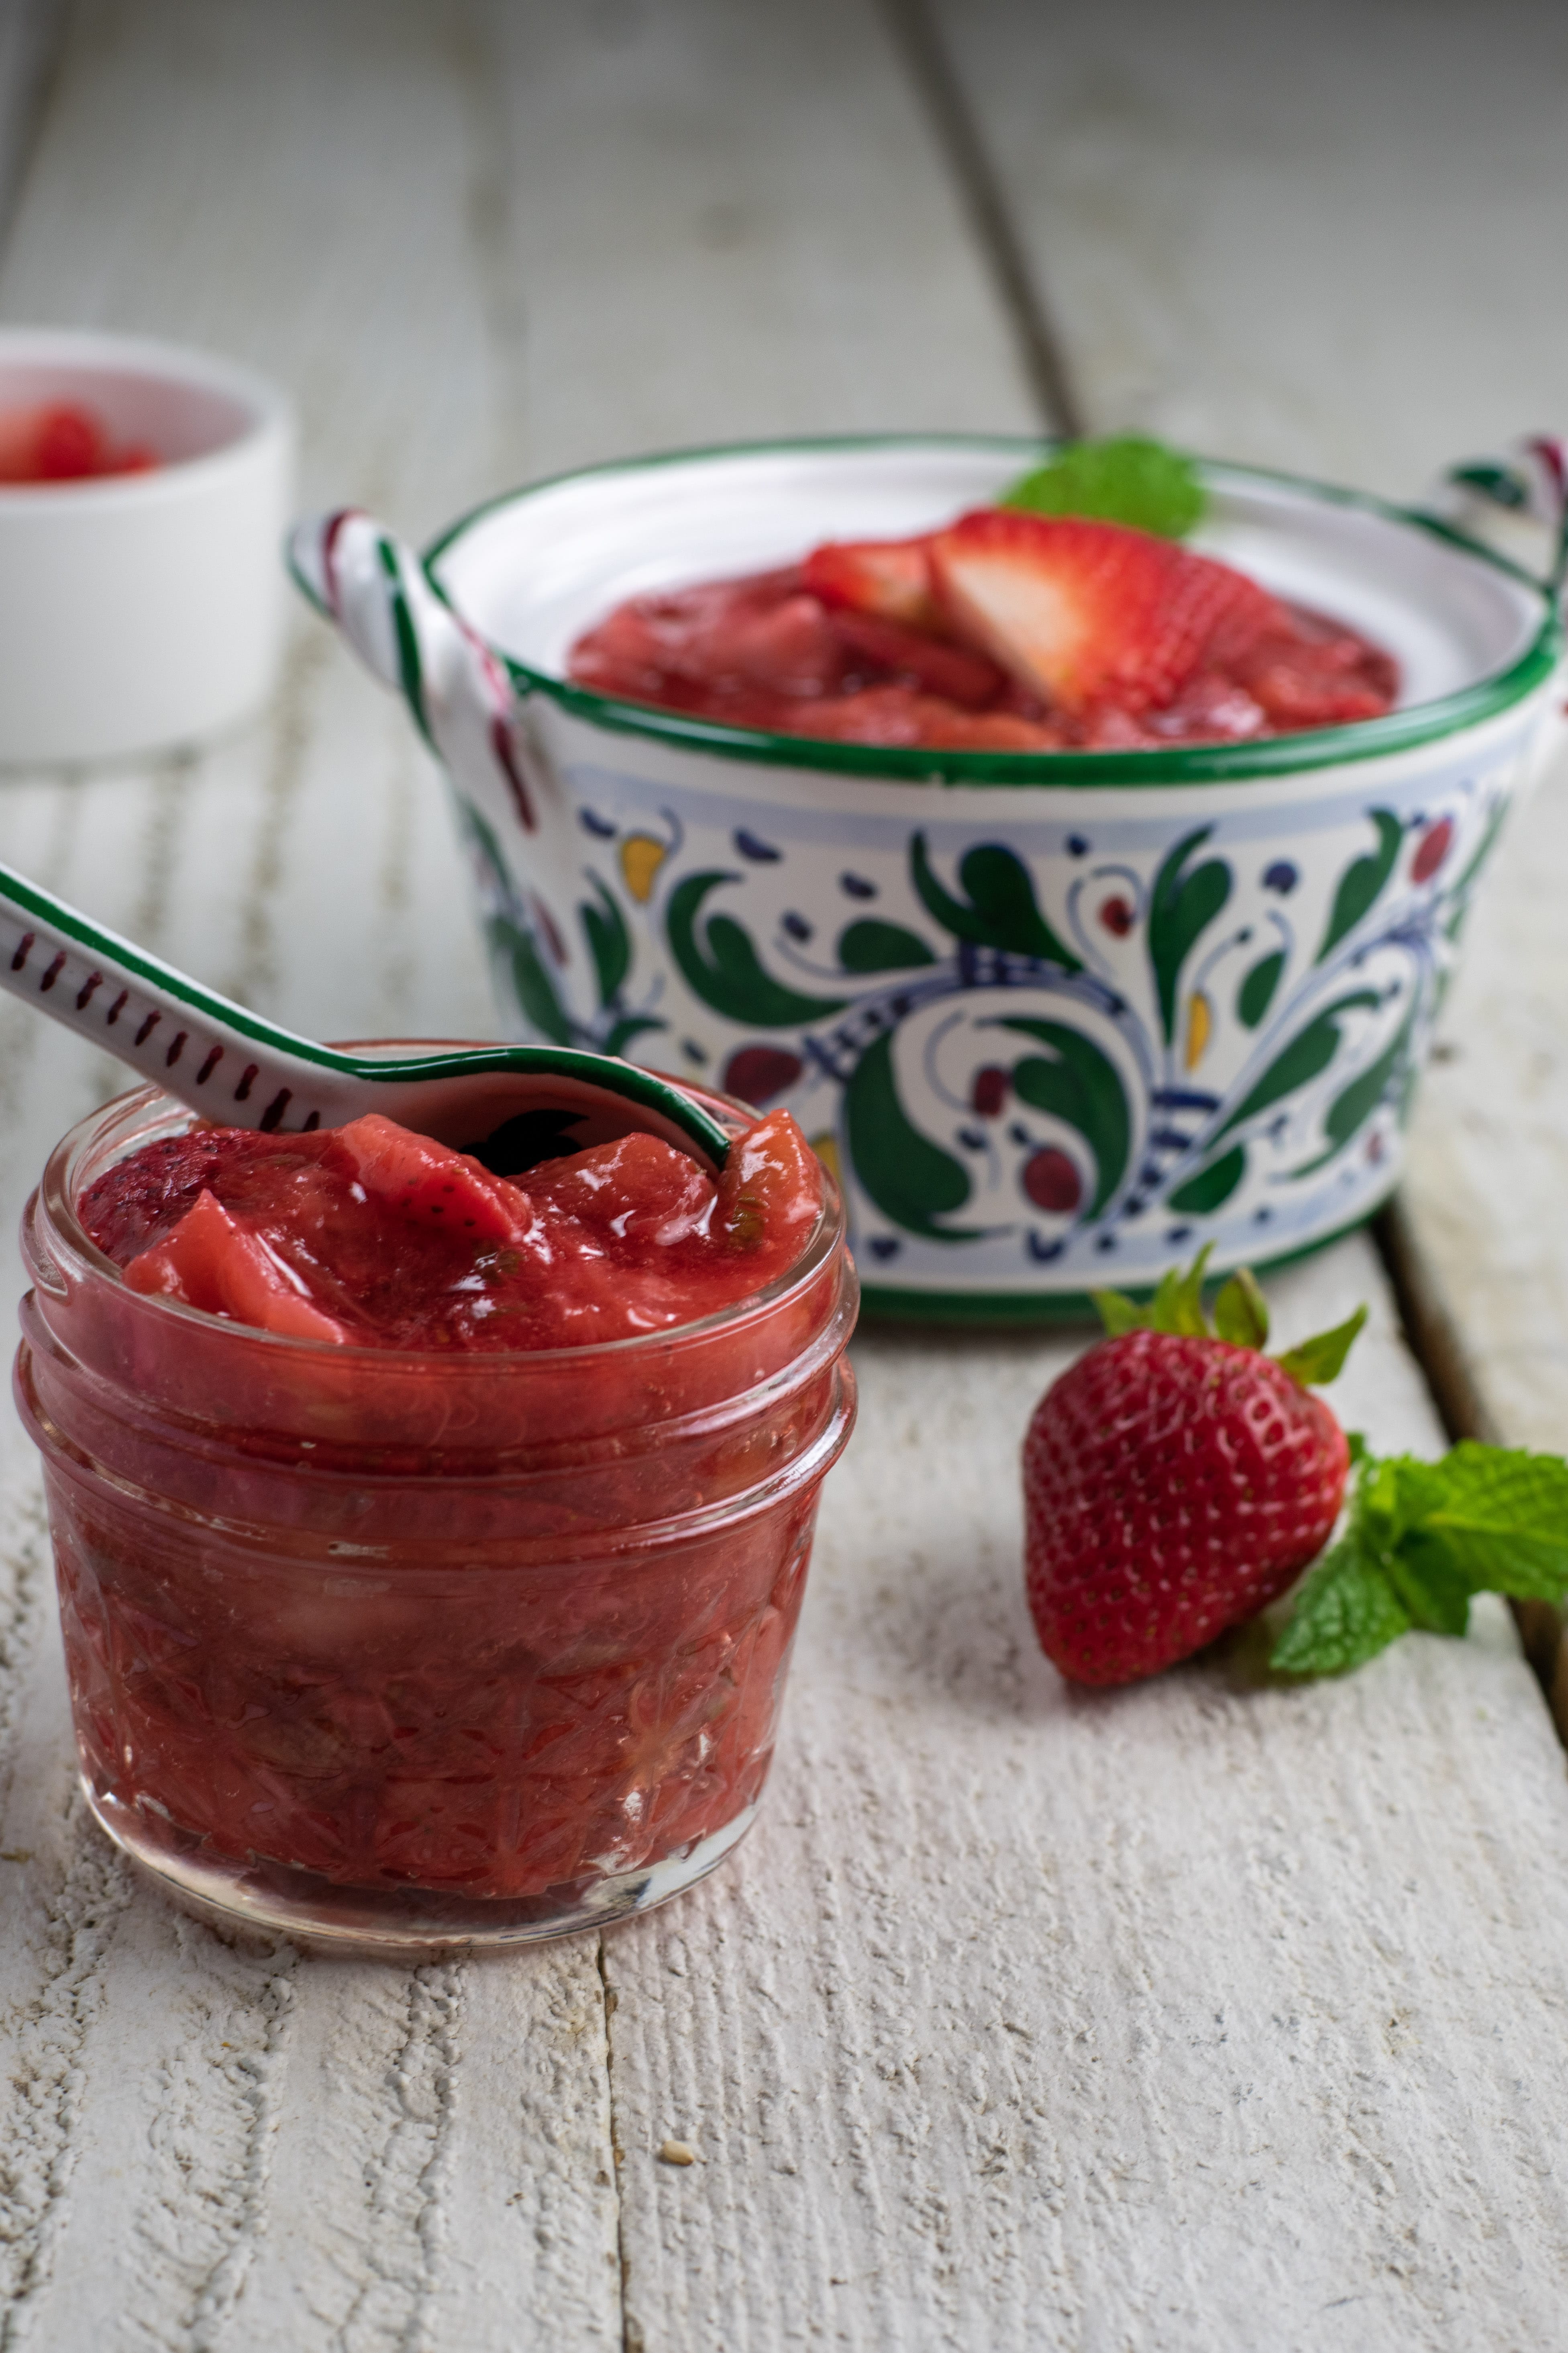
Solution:
{"label": "small ridged glass jar filled with chunky red compote", "polygon": [[501,1179],[150,1092],[54,1153],[16,1379],[82,1772],[188,1899],[510,1941],[743,1833],[853,1273],[795,1122],[722,1115],[717,1179],[646,1134]]}

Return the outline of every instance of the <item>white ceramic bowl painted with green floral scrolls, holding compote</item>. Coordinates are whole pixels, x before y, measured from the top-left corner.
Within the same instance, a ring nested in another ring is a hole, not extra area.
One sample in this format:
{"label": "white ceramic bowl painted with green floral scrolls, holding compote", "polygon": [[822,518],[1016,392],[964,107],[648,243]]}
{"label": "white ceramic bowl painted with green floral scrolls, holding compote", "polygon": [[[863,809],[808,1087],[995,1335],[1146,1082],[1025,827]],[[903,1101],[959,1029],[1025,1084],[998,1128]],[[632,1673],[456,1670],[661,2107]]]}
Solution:
{"label": "white ceramic bowl painted with green floral scrolls, holding compote", "polygon": [[567,682],[621,598],[994,499],[1037,442],[599,466],[301,586],[444,762],[505,1021],[788,1104],[870,1308],[1039,1318],[1309,1249],[1399,1176],[1476,875],[1554,711],[1552,593],[1415,513],[1208,466],[1197,546],[1385,645],[1378,720],[1133,753],[882,751]]}

